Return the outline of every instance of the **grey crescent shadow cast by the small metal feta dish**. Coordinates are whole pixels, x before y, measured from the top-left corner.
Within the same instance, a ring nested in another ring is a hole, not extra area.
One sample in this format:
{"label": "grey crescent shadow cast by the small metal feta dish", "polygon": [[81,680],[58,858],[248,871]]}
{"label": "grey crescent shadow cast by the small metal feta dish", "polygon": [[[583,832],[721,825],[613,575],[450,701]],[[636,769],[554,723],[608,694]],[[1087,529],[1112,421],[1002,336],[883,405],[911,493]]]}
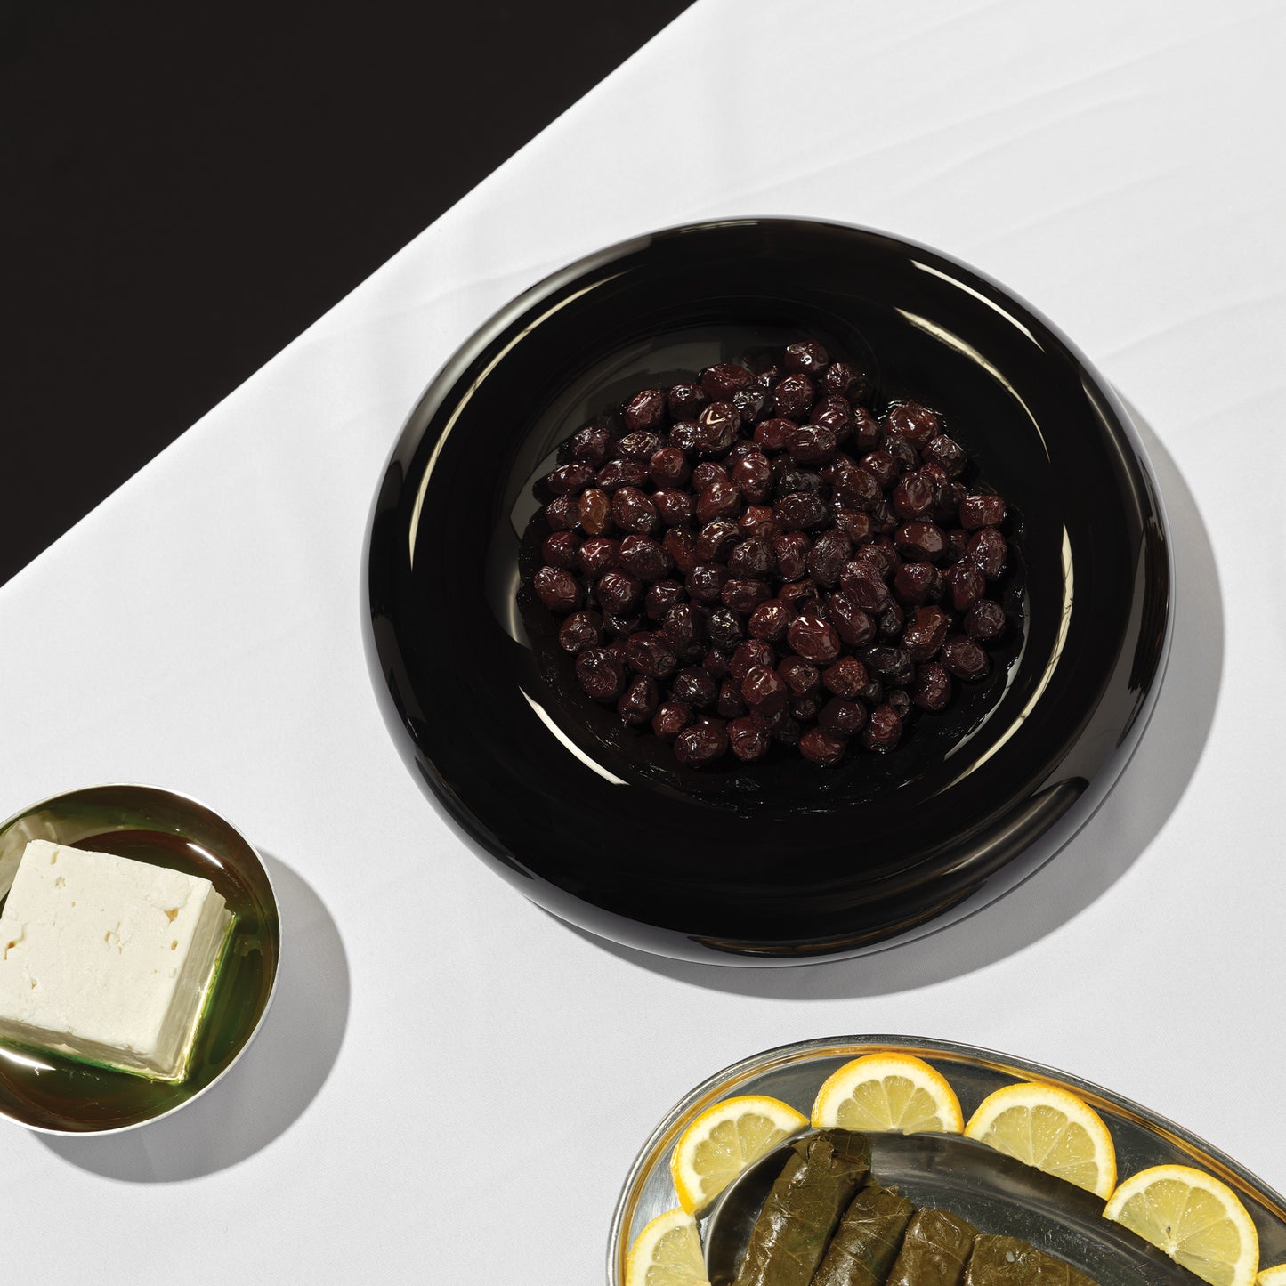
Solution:
{"label": "grey crescent shadow cast by the small metal feta dish", "polygon": [[349,1022],[349,962],[318,894],[270,854],[284,927],[276,997],[253,1044],[207,1093],[163,1120],[102,1138],[40,1134],[64,1161],[127,1183],[175,1183],[235,1165],[283,1134],[316,1097]]}

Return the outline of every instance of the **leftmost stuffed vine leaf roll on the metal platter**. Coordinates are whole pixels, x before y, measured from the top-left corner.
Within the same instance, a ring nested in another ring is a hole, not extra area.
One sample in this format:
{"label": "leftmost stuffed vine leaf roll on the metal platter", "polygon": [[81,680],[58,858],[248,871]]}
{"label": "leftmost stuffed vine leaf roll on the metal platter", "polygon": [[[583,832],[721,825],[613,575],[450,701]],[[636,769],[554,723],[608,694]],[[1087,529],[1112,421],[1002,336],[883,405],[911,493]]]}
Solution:
{"label": "leftmost stuffed vine leaf roll on the metal platter", "polygon": [[869,1170],[865,1134],[829,1129],[799,1139],[755,1220],[733,1286],[809,1286]]}

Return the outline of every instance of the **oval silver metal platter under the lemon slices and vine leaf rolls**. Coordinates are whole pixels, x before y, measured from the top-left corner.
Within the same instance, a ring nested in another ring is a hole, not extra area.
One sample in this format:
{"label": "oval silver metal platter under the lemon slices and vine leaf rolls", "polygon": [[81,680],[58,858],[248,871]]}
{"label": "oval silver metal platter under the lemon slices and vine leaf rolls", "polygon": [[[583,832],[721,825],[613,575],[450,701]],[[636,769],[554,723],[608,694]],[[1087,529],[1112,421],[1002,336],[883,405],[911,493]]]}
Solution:
{"label": "oval silver metal platter under the lemon slices and vine leaf rolls", "polygon": [[[625,1256],[643,1226],[678,1205],[670,1154],[694,1116],[721,1098],[769,1094],[809,1115],[822,1082],[842,1064],[877,1051],[910,1053],[936,1067],[959,1096],[964,1119],[993,1091],[1016,1080],[1070,1089],[1106,1121],[1121,1179],[1151,1165],[1192,1165],[1223,1179],[1259,1231],[1260,1263],[1286,1262],[1286,1202],[1244,1166],[1196,1136],[1087,1080],[1010,1055],[918,1037],[831,1037],[782,1046],[724,1069],[674,1106],[639,1152],[621,1191],[607,1255],[610,1286],[622,1286]],[[1103,1201],[983,1143],[948,1134],[872,1134],[872,1173],[917,1206],[941,1206],[981,1232],[1022,1237],[1093,1277],[1100,1286],[1196,1286],[1199,1278],[1120,1224]],[[738,1183],[754,1183],[751,1172]],[[772,1175],[763,1181],[764,1191]],[[715,1202],[718,1210],[719,1202]],[[701,1219],[705,1233],[711,1215]],[[745,1228],[748,1233],[748,1226]],[[728,1286],[739,1258],[711,1258],[711,1286]]]}

